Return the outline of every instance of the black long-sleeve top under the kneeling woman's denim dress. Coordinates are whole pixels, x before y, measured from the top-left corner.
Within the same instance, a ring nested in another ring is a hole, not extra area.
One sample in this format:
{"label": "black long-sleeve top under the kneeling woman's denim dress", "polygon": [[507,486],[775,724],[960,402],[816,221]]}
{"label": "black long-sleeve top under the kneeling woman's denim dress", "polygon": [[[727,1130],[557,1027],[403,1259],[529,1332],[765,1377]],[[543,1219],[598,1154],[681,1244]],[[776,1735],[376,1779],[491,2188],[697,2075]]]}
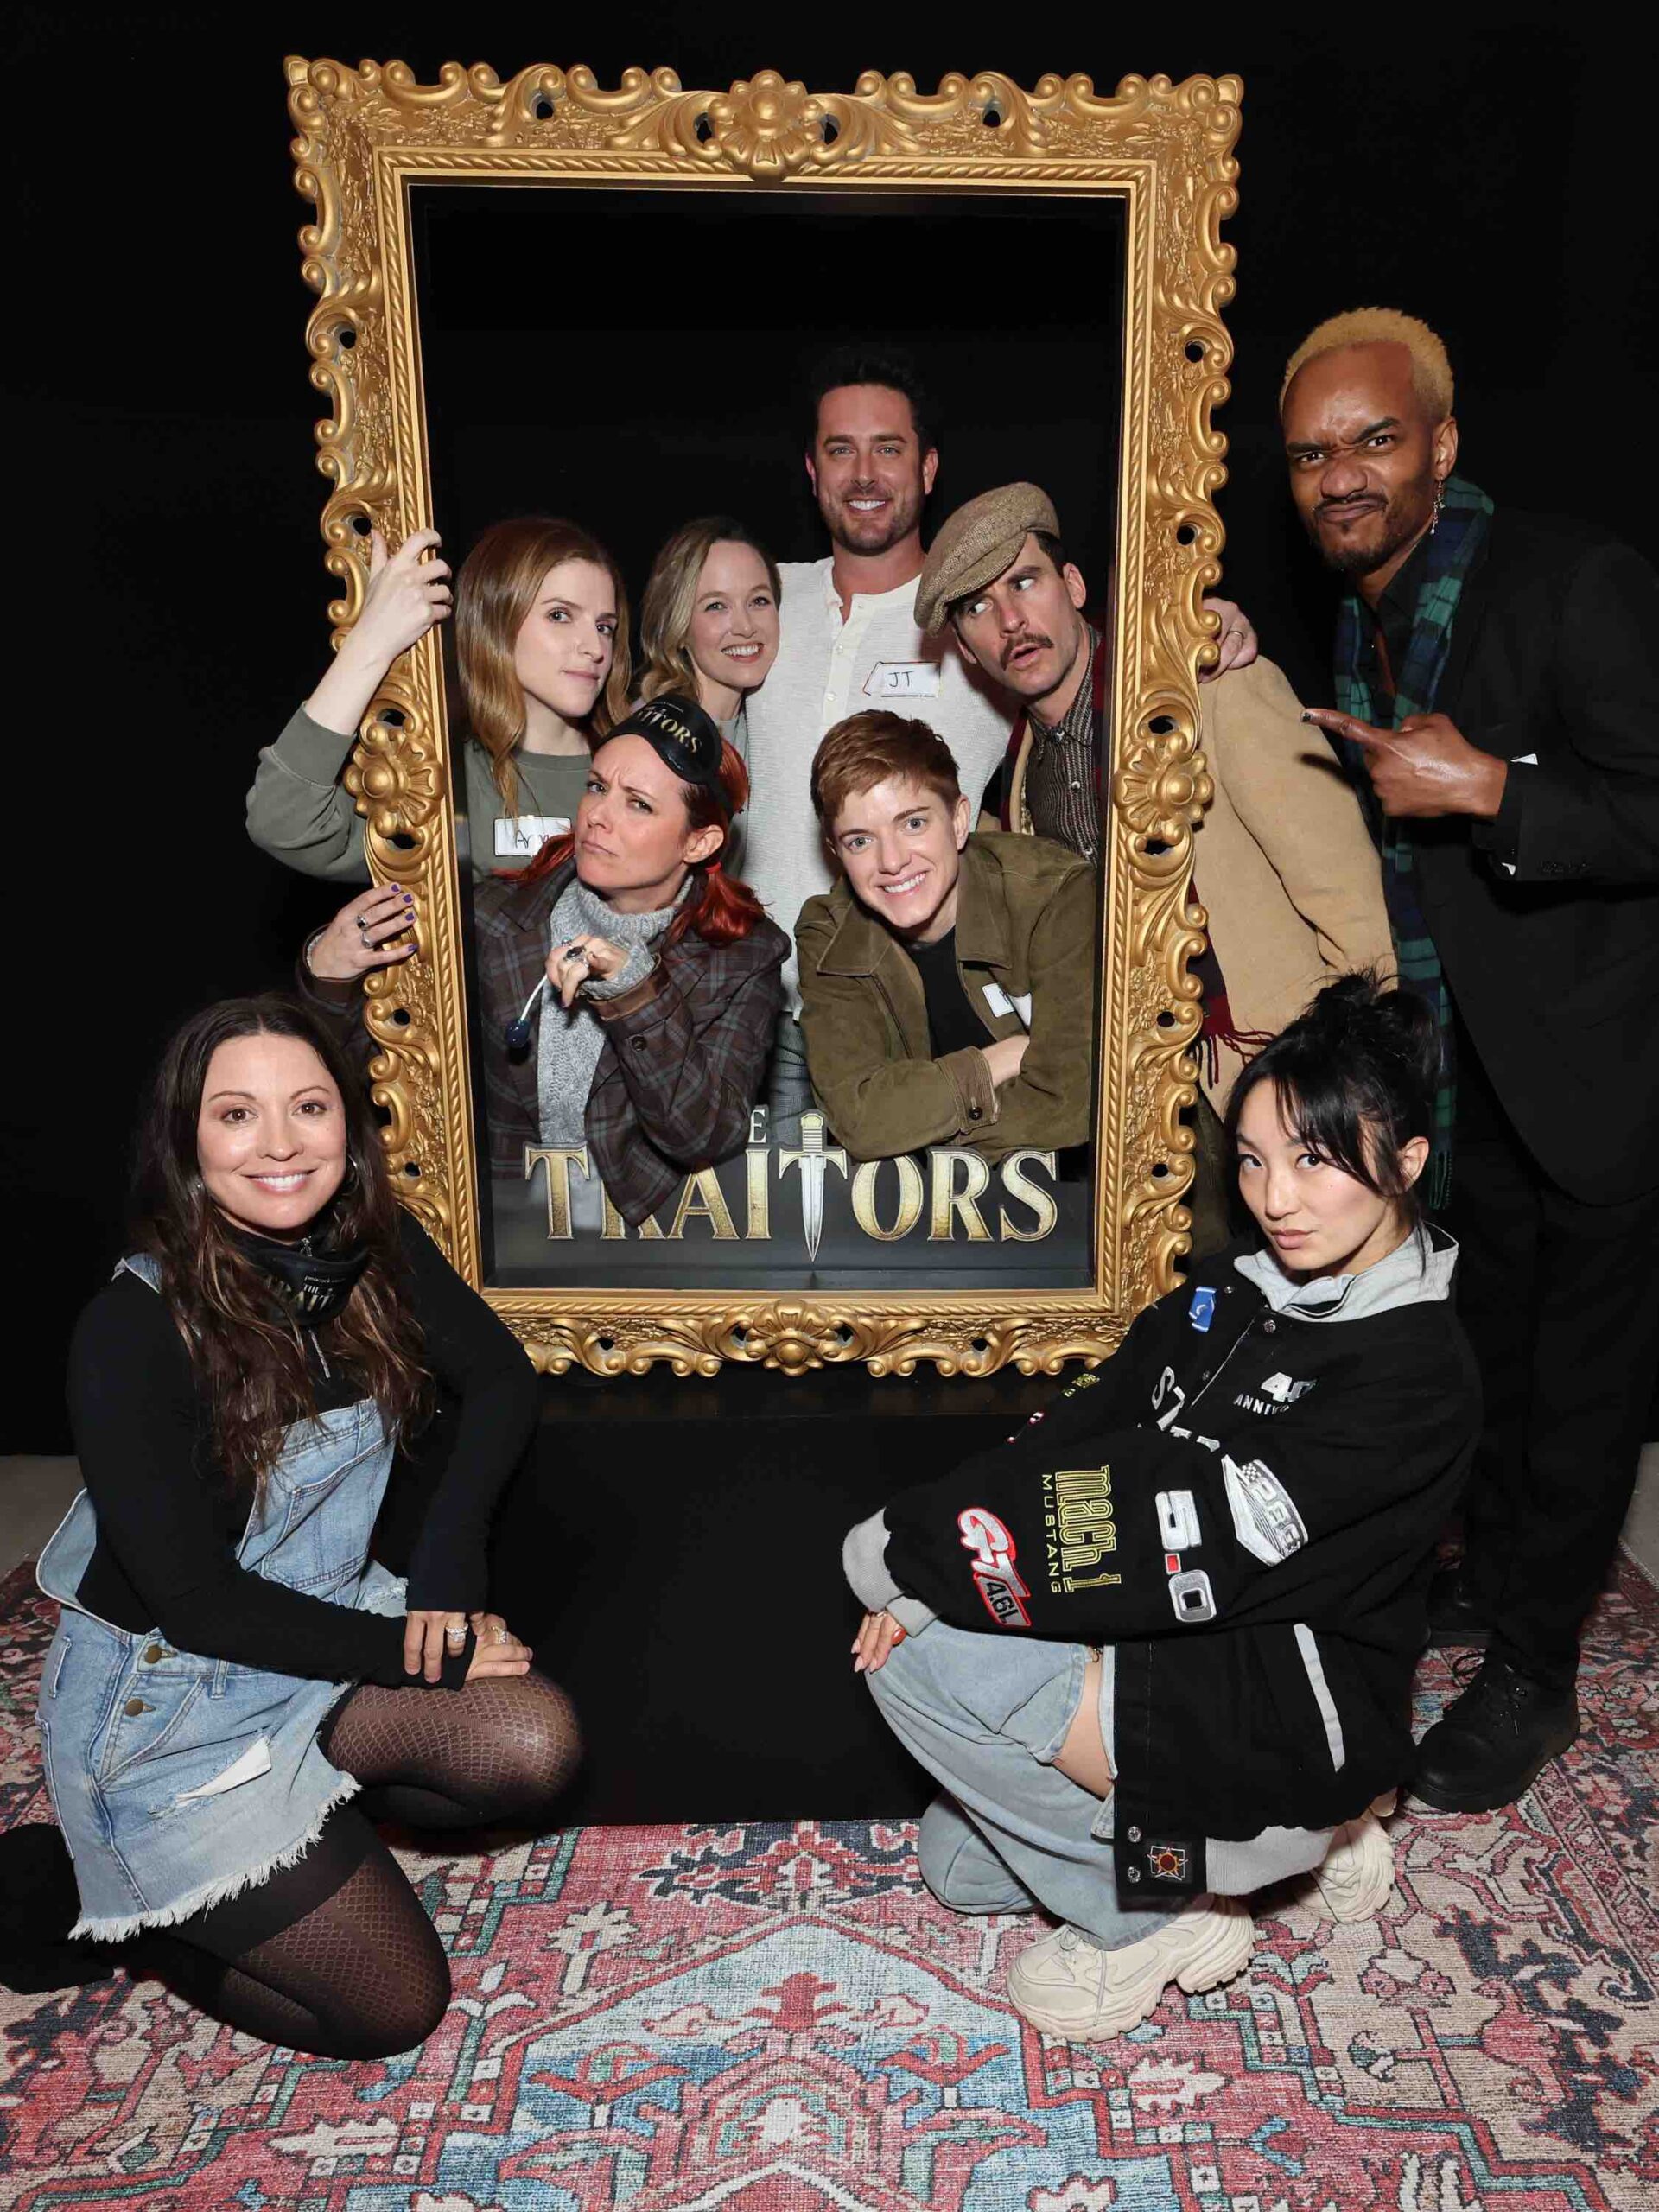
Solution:
{"label": "black long-sleeve top under the kneeling woman's denim dress", "polygon": [[[449,1464],[409,1559],[407,1601],[411,1610],[471,1613],[487,1597],[495,1500],[535,1425],[535,1371],[407,1212],[400,1241],[425,1365],[460,1400]],[[338,1374],[319,1378],[319,1411],[361,1396],[361,1385]],[[166,1301],[131,1272],[80,1316],[69,1418],[97,1511],[97,1548],[77,1590],[88,1613],[135,1635],[159,1628],[179,1650],[234,1666],[323,1681],[409,1681],[400,1617],[307,1597],[237,1564],[248,1495],[215,1467],[208,1407]]]}

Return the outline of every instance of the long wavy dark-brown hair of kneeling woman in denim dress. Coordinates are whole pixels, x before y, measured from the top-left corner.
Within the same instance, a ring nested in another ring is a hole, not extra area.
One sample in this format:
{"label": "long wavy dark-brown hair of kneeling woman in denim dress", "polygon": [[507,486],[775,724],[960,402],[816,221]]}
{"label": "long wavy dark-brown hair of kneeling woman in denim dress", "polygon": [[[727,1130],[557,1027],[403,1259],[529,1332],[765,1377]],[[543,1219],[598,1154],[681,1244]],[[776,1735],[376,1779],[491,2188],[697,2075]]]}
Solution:
{"label": "long wavy dark-brown hair of kneeling woman in denim dress", "polygon": [[248,1495],[259,1493],[288,1425],[316,1418],[305,1347],[197,1166],[208,1064],[221,1044],[259,1035],[310,1044],[345,1108],[345,1179],[310,1234],[321,1250],[367,1250],[369,1265],[341,1312],[314,1332],[316,1343],[330,1367],[345,1369],[374,1398],[387,1433],[409,1436],[431,1407],[398,1243],[398,1201],[363,1086],[296,1000],[274,993],[219,1000],[184,1024],[155,1071],[137,1139],[133,1230],[137,1250],[161,1263],[161,1296],[210,1413],[215,1469]]}

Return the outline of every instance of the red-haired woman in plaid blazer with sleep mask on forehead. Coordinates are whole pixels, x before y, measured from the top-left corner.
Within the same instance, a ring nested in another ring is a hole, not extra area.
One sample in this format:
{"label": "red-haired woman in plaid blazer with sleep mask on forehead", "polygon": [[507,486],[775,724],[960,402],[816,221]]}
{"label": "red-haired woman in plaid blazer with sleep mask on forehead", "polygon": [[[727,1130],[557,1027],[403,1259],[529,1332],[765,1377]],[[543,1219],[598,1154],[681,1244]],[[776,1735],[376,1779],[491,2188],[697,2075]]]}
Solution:
{"label": "red-haired woman in plaid blazer with sleep mask on forehead", "polygon": [[[677,692],[635,708],[588,763],[575,830],[473,889],[489,1159],[582,1146],[626,1221],[741,1150],[783,1004],[790,940],[721,852],[748,772]],[[365,891],[305,947],[334,1004],[407,945],[403,894]],[[385,947],[385,949],[383,949]],[[582,1214],[597,1188],[573,1177]]]}

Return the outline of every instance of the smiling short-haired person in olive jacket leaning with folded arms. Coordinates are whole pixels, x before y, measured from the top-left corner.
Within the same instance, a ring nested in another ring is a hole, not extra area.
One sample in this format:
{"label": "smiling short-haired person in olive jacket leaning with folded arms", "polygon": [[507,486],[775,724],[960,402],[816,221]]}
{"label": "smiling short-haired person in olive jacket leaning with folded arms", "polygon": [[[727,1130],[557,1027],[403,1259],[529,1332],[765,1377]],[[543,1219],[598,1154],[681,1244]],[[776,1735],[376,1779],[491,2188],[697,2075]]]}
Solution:
{"label": "smiling short-haired person in olive jacket leaning with folded arms", "polygon": [[1093,867],[1048,838],[969,836],[951,748],[902,714],[838,721],[812,805],[843,880],[796,922],[801,1029],[841,1144],[856,1159],[1082,1144]]}

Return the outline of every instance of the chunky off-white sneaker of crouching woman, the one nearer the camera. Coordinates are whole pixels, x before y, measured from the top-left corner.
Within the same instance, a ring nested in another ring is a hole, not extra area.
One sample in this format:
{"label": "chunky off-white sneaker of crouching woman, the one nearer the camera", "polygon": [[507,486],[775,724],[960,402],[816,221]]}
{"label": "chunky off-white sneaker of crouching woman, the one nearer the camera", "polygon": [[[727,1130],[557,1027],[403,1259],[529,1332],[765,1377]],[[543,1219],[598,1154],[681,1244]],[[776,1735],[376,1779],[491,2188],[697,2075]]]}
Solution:
{"label": "chunky off-white sneaker of crouching woman, the one nearer the camera", "polygon": [[1197,1898],[1155,1936],[1102,1951],[1077,1929],[1055,1929],[1009,1969],[1009,2000],[1033,2028],[1099,2042],[1157,2011],[1170,1982],[1214,1989],[1250,1964],[1254,1922],[1239,1898]]}

